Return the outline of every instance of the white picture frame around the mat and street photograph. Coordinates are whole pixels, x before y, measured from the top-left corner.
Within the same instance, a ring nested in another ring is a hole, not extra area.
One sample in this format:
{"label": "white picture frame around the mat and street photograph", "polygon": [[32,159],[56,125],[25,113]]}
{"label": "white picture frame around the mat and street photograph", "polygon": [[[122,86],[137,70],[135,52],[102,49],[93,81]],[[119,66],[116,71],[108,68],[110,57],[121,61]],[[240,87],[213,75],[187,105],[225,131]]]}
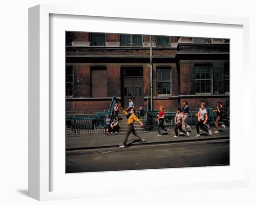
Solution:
{"label": "white picture frame around the mat and street photograph", "polygon": [[[52,55],[50,52],[50,44],[52,43],[49,38],[50,30],[50,15],[75,15],[77,17],[90,17],[90,18],[114,18],[114,19],[125,19],[126,21],[141,21],[147,20],[157,21],[156,23],[163,22],[176,22],[182,23],[199,23],[203,25],[234,25],[241,26],[243,30],[243,47],[240,53],[243,54],[242,67],[243,77],[249,75],[249,19],[241,17],[223,17],[223,16],[210,16],[210,15],[192,15],[192,14],[178,14],[178,13],[136,13],[136,11],[116,11],[115,13],[108,13],[108,11],[97,11],[96,9],[84,10],[79,7],[71,6],[52,6],[52,5],[38,5],[29,9],[29,197],[37,200],[53,200],[53,199],[75,199],[75,198],[87,198],[97,196],[120,196],[136,194],[137,192],[129,189],[121,189],[113,183],[109,189],[112,193],[99,191],[95,192],[95,189],[70,189],[70,190],[51,190],[51,182],[53,175],[53,163],[51,160],[51,152],[53,145],[51,144],[52,131],[51,131],[51,112],[53,112],[54,106],[51,106],[53,100],[54,91],[51,90],[52,77],[51,77],[51,62],[49,56]],[[74,16],[73,16],[74,17]],[[104,29],[104,28],[102,28]],[[104,31],[103,31],[104,32]],[[109,32],[109,31],[105,31]],[[225,37],[225,34],[223,34]],[[64,42],[63,42],[64,45]],[[231,39],[231,56],[232,56],[232,39]],[[64,46],[63,48],[64,49]],[[232,69],[232,61],[231,61]],[[232,74],[231,74],[232,81]],[[249,82],[243,81],[243,86],[240,88],[243,92],[243,102],[249,102]],[[232,85],[231,85],[232,86]],[[235,103],[235,101],[231,102]],[[64,114],[65,115],[65,114]],[[241,129],[246,128],[246,118],[243,114],[243,126]],[[234,118],[233,118],[234,119]],[[63,120],[63,119],[62,119]],[[232,115],[231,115],[232,120]],[[231,126],[230,126],[231,127]],[[241,131],[241,130],[240,130]],[[232,131],[231,134],[232,135]],[[65,137],[65,135],[63,136]],[[63,148],[63,147],[62,147]],[[64,147],[65,149],[65,147]],[[198,183],[176,183],[175,186],[167,181],[164,184],[152,181],[152,185],[144,186],[144,193],[156,192],[172,192],[174,190],[186,191],[191,188],[195,190],[203,189],[218,189],[218,188],[232,188],[232,187],[249,187],[249,130],[244,129],[243,135],[243,156],[245,160],[240,170],[239,176],[234,180],[220,180],[209,183],[202,181]],[[231,146],[232,151],[232,146]],[[246,158],[247,156],[247,158]],[[232,157],[232,155],[231,155]],[[230,164],[232,167],[232,163]],[[178,169],[176,169],[178,170]],[[184,169],[179,169],[180,172],[186,172]],[[191,170],[190,170],[191,171]],[[213,172],[205,170],[206,172]],[[228,171],[228,170],[227,170]],[[63,170],[64,172],[64,170]],[[140,174],[140,171],[130,172],[133,175]],[[151,174],[157,174],[158,170],[149,171]],[[169,169],[162,170],[161,172],[168,174]],[[172,172],[175,172],[172,170]],[[64,173],[65,174],[65,173]],[[117,178],[123,177],[125,172],[116,172]],[[100,176],[102,179],[104,176],[113,177],[113,172],[108,173],[94,173],[90,174],[90,177]],[[120,175],[120,176],[118,176]],[[56,176],[56,174],[55,174]],[[77,175],[77,178],[82,175]],[[91,182],[90,182],[91,183]],[[104,188],[104,187],[103,187]],[[118,191],[118,192],[116,192]]]}

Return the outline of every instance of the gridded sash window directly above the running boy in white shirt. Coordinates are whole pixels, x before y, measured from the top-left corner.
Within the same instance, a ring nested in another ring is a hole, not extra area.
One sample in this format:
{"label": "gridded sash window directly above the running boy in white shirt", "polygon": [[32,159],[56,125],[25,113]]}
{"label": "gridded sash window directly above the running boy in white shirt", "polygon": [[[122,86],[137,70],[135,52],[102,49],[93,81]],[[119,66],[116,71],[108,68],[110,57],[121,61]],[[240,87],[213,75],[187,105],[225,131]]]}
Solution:
{"label": "gridded sash window directly above the running boy in white shirt", "polygon": [[212,81],[212,65],[197,64],[195,65],[195,92],[196,93],[211,93]]}

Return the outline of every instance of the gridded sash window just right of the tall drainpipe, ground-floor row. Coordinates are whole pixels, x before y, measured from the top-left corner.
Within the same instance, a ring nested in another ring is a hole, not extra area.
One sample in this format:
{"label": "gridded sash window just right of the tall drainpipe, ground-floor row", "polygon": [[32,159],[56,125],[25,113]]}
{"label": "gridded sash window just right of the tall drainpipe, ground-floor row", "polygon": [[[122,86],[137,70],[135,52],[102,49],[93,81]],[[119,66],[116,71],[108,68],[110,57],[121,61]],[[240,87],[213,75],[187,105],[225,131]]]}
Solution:
{"label": "gridded sash window just right of the tall drainpipe, ground-floor row", "polygon": [[171,68],[156,68],[157,95],[171,95]]}

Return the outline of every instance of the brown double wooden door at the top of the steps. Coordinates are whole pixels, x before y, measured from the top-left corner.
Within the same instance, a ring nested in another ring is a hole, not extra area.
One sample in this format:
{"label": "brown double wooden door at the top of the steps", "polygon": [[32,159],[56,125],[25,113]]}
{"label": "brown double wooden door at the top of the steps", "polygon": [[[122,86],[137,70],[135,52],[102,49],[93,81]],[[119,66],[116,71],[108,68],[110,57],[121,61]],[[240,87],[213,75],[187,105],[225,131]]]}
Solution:
{"label": "brown double wooden door at the top of the steps", "polygon": [[128,107],[129,98],[132,98],[134,108],[143,107],[143,77],[123,77],[123,103]]}

